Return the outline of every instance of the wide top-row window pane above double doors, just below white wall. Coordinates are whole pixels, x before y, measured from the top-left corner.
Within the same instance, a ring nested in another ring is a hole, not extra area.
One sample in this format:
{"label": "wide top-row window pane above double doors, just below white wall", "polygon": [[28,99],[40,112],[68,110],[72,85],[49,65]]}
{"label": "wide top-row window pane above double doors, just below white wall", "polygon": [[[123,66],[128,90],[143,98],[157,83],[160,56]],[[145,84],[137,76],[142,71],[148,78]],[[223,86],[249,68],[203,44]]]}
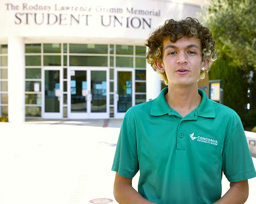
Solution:
{"label": "wide top-row window pane above double doors, just below white wall", "polygon": [[70,44],[70,53],[108,54],[108,45],[102,44]]}

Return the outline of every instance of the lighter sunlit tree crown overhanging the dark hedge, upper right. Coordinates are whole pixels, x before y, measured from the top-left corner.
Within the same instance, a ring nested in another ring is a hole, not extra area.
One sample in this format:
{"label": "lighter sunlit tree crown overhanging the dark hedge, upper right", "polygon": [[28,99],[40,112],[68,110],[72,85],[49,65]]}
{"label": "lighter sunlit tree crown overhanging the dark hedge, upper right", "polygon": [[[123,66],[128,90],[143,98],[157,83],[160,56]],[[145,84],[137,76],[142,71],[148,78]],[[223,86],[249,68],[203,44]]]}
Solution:
{"label": "lighter sunlit tree crown overhanging the dark hedge, upper right", "polygon": [[232,66],[256,70],[255,0],[211,0],[203,16],[219,55]]}

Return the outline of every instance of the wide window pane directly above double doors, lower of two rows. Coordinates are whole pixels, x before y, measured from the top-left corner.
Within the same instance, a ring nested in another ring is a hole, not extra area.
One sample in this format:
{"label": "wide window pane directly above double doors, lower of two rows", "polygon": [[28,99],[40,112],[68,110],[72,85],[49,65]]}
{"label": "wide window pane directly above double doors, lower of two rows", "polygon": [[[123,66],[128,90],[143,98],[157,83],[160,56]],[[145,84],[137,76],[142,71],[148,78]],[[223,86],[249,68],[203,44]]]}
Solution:
{"label": "wide window pane directly above double doors, lower of two rows", "polygon": [[70,66],[108,66],[105,56],[70,56]]}

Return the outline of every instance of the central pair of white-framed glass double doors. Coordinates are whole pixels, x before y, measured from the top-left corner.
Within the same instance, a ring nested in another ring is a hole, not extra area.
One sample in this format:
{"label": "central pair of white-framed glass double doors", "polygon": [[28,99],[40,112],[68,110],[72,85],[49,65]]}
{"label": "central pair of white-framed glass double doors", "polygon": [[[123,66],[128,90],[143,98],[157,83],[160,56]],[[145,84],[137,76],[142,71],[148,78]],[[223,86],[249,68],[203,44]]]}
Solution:
{"label": "central pair of white-framed glass double doors", "polygon": [[108,79],[105,68],[70,68],[68,117],[109,118]]}

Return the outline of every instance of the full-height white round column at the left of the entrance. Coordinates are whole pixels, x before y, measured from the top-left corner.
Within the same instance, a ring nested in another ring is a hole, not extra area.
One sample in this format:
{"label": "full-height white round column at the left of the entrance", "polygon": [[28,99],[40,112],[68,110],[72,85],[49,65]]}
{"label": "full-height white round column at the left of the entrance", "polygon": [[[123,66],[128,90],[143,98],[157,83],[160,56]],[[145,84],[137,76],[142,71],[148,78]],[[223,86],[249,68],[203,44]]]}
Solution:
{"label": "full-height white round column at the left of the entrance", "polygon": [[8,120],[25,121],[25,43],[22,37],[8,38]]}

